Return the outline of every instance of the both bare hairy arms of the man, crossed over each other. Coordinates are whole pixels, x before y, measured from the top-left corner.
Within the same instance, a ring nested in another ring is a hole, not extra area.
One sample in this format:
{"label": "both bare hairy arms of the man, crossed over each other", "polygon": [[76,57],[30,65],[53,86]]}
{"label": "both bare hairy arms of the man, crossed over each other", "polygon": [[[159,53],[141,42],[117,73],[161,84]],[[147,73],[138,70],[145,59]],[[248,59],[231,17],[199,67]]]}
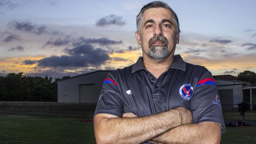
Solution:
{"label": "both bare hairy arms of the man, crossed over each other", "polygon": [[94,118],[97,144],[153,144],[169,143],[219,143],[221,126],[213,122],[192,124],[190,111],[176,108],[182,114],[182,126],[176,111],[144,117],[127,115],[118,118],[110,114],[96,114]]}

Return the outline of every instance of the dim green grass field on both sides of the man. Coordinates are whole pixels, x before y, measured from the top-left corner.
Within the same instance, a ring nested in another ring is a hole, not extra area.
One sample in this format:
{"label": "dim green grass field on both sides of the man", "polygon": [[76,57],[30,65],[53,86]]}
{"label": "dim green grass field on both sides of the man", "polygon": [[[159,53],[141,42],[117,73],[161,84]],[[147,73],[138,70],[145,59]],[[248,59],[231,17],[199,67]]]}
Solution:
{"label": "dim green grass field on both sides of the man", "polygon": [[[0,114],[0,144],[95,144],[91,118]],[[222,144],[254,144],[256,126],[227,127]]]}

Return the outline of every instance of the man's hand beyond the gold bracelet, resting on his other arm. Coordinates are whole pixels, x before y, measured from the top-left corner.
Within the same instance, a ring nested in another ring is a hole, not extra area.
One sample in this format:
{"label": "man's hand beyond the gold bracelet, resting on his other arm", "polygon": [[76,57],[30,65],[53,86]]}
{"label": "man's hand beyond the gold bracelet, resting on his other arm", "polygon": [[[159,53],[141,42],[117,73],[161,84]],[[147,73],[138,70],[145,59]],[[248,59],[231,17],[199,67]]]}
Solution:
{"label": "man's hand beyond the gold bracelet, resting on his other arm", "polygon": [[192,117],[191,111],[185,109],[184,107],[177,107],[175,110],[181,114],[182,125],[193,123],[193,117]]}

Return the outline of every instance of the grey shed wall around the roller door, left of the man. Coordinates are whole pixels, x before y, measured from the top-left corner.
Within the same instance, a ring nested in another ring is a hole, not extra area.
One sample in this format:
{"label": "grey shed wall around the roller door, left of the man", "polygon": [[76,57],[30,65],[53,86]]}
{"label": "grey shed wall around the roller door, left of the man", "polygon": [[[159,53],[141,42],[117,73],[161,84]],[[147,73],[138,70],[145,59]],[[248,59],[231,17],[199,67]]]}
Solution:
{"label": "grey shed wall around the roller door, left of the man", "polygon": [[[79,102],[79,85],[94,84],[96,91],[96,99],[100,93],[101,85],[106,78],[108,72],[96,72],[76,78],[58,82],[58,102],[63,102],[63,96],[67,95],[67,102]],[[97,102],[97,101],[96,101]],[[95,102],[95,103],[96,103]]]}

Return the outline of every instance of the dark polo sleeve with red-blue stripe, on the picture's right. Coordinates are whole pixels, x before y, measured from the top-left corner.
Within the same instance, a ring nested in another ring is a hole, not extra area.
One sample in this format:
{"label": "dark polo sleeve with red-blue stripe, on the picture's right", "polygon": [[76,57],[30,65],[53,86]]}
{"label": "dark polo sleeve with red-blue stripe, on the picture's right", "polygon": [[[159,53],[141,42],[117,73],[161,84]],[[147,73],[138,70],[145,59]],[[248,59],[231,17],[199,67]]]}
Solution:
{"label": "dark polo sleeve with red-blue stripe, on the picture's right", "polygon": [[211,73],[206,72],[198,80],[193,97],[190,101],[190,110],[194,123],[198,122],[218,122],[222,124],[222,133],[226,131],[223,120],[221,101],[215,80]]}

